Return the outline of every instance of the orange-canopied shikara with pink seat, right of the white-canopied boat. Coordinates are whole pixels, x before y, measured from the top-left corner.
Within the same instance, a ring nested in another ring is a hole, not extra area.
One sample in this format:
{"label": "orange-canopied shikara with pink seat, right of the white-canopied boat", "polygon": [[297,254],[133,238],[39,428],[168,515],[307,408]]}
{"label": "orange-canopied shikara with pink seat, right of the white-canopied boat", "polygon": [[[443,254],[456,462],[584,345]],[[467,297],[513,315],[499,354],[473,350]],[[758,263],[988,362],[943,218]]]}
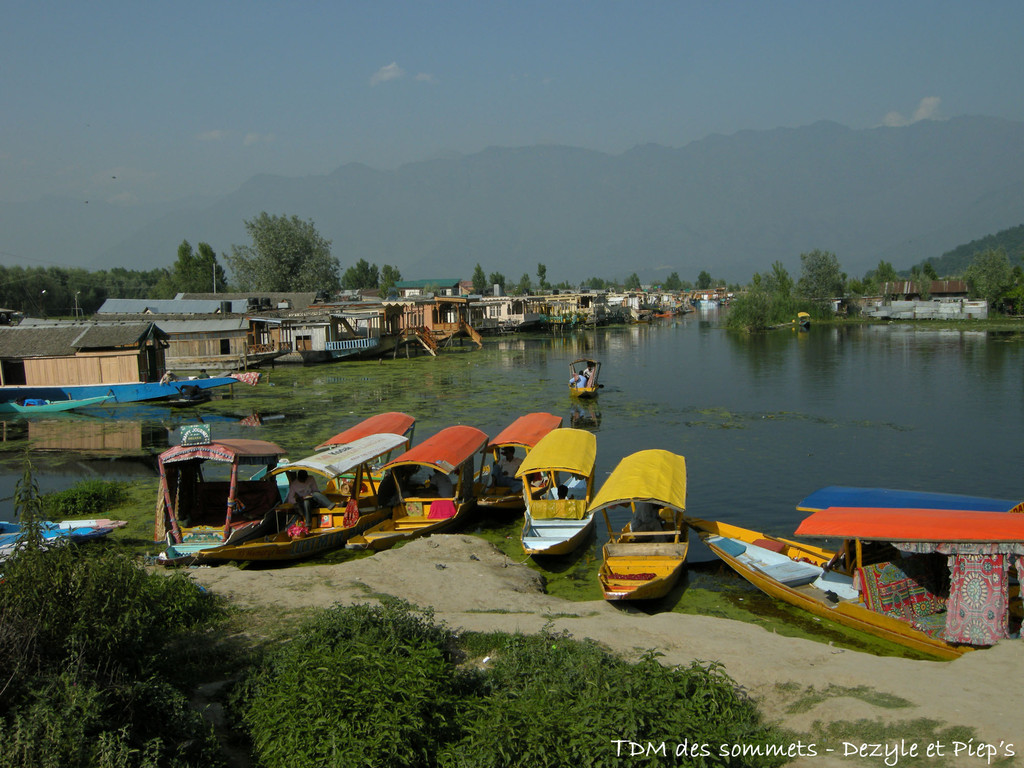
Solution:
{"label": "orange-canopied shikara with pink seat, right of the white-canopied boat", "polygon": [[377,489],[382,522],[348,540],[349,549],[384,550],[459,525],[473,506],[487,435],[447,427],[384,466]]}

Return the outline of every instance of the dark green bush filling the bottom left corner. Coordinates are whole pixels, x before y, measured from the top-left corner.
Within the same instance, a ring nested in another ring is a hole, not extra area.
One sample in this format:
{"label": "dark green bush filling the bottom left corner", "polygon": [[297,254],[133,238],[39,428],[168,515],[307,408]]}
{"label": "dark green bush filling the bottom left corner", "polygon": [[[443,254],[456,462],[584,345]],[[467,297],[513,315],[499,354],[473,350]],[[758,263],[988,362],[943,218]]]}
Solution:
{"label": "dark green bush filling the bottom left corner", "polygon": [[173,640],[222,612],[184,573],[111,551],[29,546],[0,589],[0,768],[213,766],[216,739],[170,682]]}

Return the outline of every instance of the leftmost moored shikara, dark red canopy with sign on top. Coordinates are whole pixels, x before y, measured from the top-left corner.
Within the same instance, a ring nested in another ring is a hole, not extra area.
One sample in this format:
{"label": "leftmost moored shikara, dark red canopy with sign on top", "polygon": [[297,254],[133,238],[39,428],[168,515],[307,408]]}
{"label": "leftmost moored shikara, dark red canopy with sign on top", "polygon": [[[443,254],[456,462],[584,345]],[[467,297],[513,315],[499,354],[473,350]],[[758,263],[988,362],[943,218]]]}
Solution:
{"label": "leftmost moored shikara, dark red canopy with sign on top", "polygon": [[267,440],[211,440],[209,429],[183,430],[181,445],[160,455],[154,540],[165,564],[195,562],[198,552],[259,534],[280,502],[274,478],[242,479],[240,467],[274,467],[285,451]]}

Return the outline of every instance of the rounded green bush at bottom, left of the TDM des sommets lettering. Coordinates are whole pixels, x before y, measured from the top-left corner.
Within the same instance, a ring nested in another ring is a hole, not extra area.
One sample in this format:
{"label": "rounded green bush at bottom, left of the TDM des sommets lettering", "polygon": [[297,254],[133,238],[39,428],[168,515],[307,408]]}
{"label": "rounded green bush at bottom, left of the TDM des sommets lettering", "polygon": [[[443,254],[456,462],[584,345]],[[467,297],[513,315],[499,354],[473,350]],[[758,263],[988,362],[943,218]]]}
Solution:
{"label": "rounded green bush at bottom, left of the TDM des sommets lettering", "polygon": [[236,696],[266,768],[425,766],[457,733],[453,638],[399,601],[335,607]]}

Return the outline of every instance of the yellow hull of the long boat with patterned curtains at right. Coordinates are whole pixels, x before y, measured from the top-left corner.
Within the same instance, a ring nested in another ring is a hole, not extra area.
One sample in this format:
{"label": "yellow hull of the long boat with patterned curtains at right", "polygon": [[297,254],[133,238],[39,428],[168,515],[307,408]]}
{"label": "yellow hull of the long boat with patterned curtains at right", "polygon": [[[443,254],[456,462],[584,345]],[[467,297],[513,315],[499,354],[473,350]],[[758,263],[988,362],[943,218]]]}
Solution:
{"label": "yellow hull of the long boat with patterned curtains at right", "polygon": [[834,603],[825,597],[824,592],[810,585],[791,587],[782,584],[730,555],[722,548],[720,541],[716,542],[716,539],[734,539],[745,543],[754,543],[759,539],[780,542],[786,547],[793,548],[793,551],[799,551],[801,557],[816,565],[824,565],[831,560],[836,554],[834,552],[802,542],[767,537],[757,531],[727,523],[698,520],[695,518],[687,518],[687,522],[698,531],[701,541],[708,545],[708,548],[712,552],[718,555],[739,575],[771,597],[808,610],[814,615],[829,618],[846,627],[866,632],[876,637],[881,637],[890,642],[898,643],[907,648],[940,658],[956,658],[965,652],[972,650],[971,646],[952,645],[944,640],[930,637],[905,622],[870,610],[863,603],[849,600],[840,600]]}

